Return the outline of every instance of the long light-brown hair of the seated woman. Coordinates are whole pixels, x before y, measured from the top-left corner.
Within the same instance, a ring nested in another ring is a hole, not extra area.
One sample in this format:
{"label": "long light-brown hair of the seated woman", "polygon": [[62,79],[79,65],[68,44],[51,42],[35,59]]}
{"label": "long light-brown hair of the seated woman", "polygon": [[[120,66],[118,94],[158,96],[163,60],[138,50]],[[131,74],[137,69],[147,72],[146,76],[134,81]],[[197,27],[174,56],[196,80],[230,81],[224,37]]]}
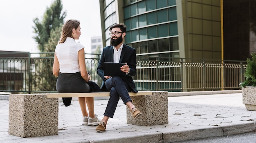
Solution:
{"label": "long light-brown hair of the seated woman", "polygon": [[61,39],[58,41],[58,43],[64,43],[67,39],[67,37],[72,37],[72,29],[77,29],[80,25],[80,22],[78,20],[67,20],[65,24],[62,27],[61,31]]}

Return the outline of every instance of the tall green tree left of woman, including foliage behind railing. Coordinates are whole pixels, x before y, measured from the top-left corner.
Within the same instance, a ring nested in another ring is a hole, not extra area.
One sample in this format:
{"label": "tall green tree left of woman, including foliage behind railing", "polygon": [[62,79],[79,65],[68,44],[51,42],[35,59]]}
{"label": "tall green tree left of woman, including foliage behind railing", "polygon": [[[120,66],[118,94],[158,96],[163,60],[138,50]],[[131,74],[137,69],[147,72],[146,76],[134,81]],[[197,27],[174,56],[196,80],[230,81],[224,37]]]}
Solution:
{"label": "tall green tree left of woman, including foliage behind railing", "polygon": [[[40,52],[54,52],[66,16],[61,11],[61,0],[55,0],[45,11],[42,22],[38,18],[34,20],[34,39]],[[31,75],[31,89],[34,91],[56,91],[56,77],[52,74],[53,57],[54,54],[46,53],[40,54],[40,58],[34,58],[35,71]]]}

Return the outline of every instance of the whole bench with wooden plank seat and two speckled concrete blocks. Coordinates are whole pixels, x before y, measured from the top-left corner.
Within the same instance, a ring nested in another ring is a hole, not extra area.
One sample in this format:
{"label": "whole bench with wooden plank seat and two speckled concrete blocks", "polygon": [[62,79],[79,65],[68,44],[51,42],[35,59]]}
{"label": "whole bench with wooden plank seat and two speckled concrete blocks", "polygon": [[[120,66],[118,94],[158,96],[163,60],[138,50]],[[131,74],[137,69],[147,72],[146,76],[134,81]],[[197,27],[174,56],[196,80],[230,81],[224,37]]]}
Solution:
{"label": "whole bench with wooden plank seat and two speckled concrete blocks", "polygon": [[[142,115],[133,118],[129,108],[126,107],[127,124],[139,126],[168,124],[167,91],[139,91],[129,95]],[[9,134],[18,137],[58,135],[59,98],[104,96],[110,96],[110,93],[11,94],[9,95]]]}

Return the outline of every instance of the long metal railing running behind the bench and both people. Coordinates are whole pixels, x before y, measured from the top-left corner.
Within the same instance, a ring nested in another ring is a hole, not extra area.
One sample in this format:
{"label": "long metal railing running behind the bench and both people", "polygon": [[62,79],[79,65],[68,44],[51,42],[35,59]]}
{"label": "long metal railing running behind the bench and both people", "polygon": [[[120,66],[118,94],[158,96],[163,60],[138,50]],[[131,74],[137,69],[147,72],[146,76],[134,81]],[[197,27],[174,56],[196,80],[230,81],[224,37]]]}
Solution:
{"label": "long metal railing running behind the bench and both people", "polygon": [[[56,92],[57,78],[52,74],[54,52],[25,54],[27,56],[17,56],[20,52],[0,53],[0,92]],[[102,80],[97,75],[99,58],[100,54],[85,54],[91,80],[101,86]],[[137,56],[137,72],[133,79],[138,90],[240,89],[246,64],[246,61]]]}

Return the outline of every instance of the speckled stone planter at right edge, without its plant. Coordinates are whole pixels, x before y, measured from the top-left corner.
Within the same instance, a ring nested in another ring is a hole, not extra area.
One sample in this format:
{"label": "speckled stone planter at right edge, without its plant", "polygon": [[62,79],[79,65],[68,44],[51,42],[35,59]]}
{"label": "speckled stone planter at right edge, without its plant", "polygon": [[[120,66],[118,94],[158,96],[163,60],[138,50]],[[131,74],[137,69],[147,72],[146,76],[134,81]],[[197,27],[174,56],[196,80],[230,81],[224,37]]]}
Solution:
{"label": "speckled stone planter at right edge, without its plant", "polygon": [[256,87],[243,87],[243,104],[247,110],[256,111]]}

